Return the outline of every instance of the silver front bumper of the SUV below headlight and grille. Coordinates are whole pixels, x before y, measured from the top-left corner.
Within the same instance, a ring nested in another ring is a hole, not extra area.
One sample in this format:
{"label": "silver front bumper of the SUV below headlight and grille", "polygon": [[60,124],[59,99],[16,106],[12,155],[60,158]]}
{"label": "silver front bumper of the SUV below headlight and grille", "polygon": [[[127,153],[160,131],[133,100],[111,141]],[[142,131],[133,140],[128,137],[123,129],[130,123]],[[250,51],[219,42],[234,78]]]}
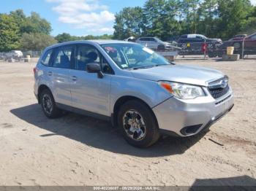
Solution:
{"label": "silver front bumper of the SUV below headlight and grille", "polygon": [[157,117],[159,129],[168,134],[193,136],[209,128],[233,108],[232,90],[214,99],[211,95],[193,100],[170,98],[155,106],[153,112]]}

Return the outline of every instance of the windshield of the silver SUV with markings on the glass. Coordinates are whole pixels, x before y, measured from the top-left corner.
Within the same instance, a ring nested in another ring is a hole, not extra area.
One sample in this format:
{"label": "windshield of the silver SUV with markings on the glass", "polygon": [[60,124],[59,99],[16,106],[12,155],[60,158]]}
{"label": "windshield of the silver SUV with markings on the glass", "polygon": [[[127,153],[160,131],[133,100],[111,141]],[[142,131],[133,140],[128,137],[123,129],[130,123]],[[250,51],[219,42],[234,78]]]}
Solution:
{"label": "windshield of the silver SUV with markings on the glass", "polygon": [[121,69],[143,69],[170,65],[165,58],[140,44],[102,44],[103,49]]}

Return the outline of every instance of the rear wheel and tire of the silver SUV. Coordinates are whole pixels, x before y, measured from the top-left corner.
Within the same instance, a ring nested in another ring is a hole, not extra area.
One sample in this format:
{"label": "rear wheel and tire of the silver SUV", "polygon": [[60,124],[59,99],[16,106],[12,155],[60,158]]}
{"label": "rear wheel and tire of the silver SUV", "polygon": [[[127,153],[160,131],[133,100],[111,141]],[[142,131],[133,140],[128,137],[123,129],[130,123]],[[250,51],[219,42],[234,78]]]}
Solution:
{"label": "rear wheel and tire of the silver SUV", "polygon": [[42,106],[42,111],[45,113],[46,117],[54,119],[61,116],[62,112],[56,106],[53,94],[50,92],[50,90],[42,90],[42,93],[40,93],[40,103]]}

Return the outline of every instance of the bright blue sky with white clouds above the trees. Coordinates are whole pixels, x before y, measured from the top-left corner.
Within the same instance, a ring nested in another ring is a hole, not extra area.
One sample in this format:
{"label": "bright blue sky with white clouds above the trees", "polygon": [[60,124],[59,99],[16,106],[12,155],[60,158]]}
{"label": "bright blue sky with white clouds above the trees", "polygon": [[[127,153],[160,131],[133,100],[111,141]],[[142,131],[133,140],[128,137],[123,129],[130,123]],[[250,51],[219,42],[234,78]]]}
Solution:
{"label": "bright blue sky with white clouds above the trees", "polygon": [[[23,9],[32,11],[51,23],[52,35],[75,36],[113,34],[116,12],[124,7],[142,7],[146,0],[8,0],[1,2],[0,12]],[[256,0],[251,0],[256,5]]]}

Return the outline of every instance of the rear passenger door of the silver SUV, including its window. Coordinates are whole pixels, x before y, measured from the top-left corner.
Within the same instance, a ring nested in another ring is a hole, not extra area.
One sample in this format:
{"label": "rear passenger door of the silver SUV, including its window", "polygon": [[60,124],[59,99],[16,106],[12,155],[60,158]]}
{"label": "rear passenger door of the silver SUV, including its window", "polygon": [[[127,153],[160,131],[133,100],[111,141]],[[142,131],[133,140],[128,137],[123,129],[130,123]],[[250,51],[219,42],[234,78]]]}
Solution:
{"label": "rear passenger door of the silver SUV, including its window", "polygon": [[74,63],[75,46],[62,46],[54,50],[51,70],[48,75],[53,77],[53,94],[56,103],[72,106],[70,92],[70,69]]}

